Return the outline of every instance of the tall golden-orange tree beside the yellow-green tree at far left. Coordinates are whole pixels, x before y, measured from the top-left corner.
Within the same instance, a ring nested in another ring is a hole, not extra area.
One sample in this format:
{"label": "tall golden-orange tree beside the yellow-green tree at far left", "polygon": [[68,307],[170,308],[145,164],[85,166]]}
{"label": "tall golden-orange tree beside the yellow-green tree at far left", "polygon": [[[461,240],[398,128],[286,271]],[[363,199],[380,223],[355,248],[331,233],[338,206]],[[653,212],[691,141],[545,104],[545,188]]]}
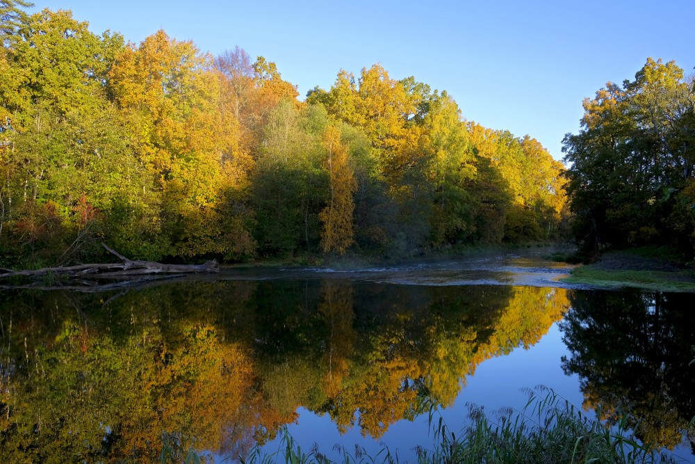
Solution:
{"label": "tall golden-orange tree beside the yellow-green tree at far left", "polygon": [[[152,205],[160,227],[158,253],[226,252],[230,243],[219,222],[222,189],[243,182],[248,166],[238,150],[234,114],[219,104],[221,80],[212,58],[193,42],[158,31],[126,47],[109,84],[152,175],[150,188],[158,193]],[[245,236],[244,230],[238,233]]]}

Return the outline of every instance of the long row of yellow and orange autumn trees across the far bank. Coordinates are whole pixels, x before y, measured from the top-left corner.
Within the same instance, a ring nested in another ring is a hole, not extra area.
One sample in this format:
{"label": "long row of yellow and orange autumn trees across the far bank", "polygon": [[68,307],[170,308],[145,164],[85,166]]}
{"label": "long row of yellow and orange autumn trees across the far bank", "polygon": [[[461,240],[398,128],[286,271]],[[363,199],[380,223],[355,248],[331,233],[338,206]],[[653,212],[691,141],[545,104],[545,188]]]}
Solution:
{"label": "long row of yellow and orange autumn trees across the far bank", "polygon": [[413,255],[543,241],[563,165],[381,65],[301,101],[275,63],[0,2],[0,265]]}

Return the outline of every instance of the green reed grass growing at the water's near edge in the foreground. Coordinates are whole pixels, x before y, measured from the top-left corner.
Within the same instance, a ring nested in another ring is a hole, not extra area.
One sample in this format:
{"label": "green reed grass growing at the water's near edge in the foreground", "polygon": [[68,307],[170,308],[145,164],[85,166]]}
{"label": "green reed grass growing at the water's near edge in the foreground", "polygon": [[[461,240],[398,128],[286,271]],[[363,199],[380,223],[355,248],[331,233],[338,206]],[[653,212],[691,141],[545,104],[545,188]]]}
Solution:
{"label": "green reed grass growing at the water's near edge in the foreground", "polygon": [[[675,463],[673,458],[640,442],[623,416],[607,426],[590,419],[553,390],[525,390],[528,403],[521,411],[500,410],[493,417],[482,408],[469,406],[468,422],[459,433],[443,422],[434,403],[429,407],[431,449],[416,447],[417,462],[429,463]],[[427,400],[424,400],[427,401]],[[437,418],[439,417],[439,418]],[[338,461],[322,454],[316,445],[308,452],[283,431],[282,443],[274,454],[259,447],[240,461],[245,464],[395,464],[401,462],[384,446],[375,456],[356,447],[354,453],[339,445]],[[404,461],[403,461],[404,462]]]}

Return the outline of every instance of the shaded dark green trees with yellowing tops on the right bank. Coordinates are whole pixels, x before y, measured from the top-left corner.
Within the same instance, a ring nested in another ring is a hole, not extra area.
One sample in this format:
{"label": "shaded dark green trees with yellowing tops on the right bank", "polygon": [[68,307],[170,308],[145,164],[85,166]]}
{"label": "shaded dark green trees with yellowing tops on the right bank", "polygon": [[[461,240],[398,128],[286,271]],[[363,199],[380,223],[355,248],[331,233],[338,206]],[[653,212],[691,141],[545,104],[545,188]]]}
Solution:
{"label": "shaded dark green trees with yellowing tops on the right bank", "polygon": [[[676,63],[651,58],[634,81],[607,83],[584,100],[582,129],[567,134],[563,148],[571,165],[567,189],[575,237],[584,246],[682,237],[673,234],[668,218],[674,208],[685,213],[677,198],[687,203],[683,189],[695,166],[694,101]],[[678,221],[685,227],[687,214]]]}

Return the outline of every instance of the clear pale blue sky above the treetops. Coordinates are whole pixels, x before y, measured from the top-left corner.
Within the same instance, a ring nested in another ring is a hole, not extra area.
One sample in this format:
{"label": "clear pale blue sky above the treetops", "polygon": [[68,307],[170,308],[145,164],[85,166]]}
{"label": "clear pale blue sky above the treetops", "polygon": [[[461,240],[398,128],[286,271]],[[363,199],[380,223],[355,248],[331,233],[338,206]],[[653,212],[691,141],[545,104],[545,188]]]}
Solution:
{"label": "clear pale blue sky above the treetops", "polygon": [[695,0],[35,0],[140,42],[164,29],[213,55],[235,45],[299,87],[381,63],[447,90],[467,120],[537,138],[562,158],[582,99],[634,79],[646,58],[695,67]]}

